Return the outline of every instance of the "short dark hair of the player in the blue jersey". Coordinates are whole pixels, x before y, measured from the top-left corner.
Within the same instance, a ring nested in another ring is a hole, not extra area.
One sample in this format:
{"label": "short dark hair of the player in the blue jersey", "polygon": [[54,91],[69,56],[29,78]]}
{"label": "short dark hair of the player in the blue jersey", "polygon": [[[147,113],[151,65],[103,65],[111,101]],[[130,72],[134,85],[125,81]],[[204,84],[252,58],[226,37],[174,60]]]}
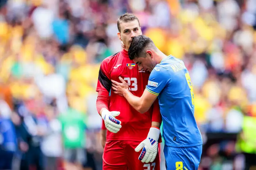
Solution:
{"label": "short dark hair of the player in the blue jersey", "polygon": [[130,60],[133,60],[136,57],[145,57],[145,48],[149,45],[154,45],[155,47],[155,44],[152,41],[152,39],[148,38],[147,36],[139,35],[133,37],[133,40],[128,50]]}

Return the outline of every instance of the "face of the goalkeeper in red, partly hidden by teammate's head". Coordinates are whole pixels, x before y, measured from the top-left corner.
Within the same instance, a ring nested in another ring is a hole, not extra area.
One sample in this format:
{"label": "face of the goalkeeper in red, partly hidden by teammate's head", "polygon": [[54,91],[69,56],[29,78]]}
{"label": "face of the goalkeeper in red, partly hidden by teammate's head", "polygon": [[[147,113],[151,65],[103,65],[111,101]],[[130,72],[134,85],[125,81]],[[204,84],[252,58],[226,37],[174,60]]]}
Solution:
{"label": "face of the goalkeeper in red, partly hidden by teammate's head", "polygon": [[137,20],[120,23],[120,32],[117,33],[119,39],[123,41],[125,49],[128,51],[133,37],[142,35],[139,22]]}

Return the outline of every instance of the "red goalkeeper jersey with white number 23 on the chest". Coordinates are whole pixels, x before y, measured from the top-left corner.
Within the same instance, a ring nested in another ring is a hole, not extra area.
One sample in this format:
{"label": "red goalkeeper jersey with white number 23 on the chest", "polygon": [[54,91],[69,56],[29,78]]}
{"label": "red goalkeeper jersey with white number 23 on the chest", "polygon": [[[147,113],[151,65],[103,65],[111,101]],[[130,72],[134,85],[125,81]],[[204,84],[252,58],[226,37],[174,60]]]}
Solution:
{"label": "red goalkeeper jersey with white number 23 on the chest", "polygon": [[[132,94],[140,97],[147,85],[149,75],[148,72],[139,71],[138,66],[129,59],[128,52],[123,50],[105,58],[101,63],[96,91],[108,94],[111,91],[111,80],[120,82],[118,79],[120,76],[129,84]],[[140,114],[124,97],[111,91],[109,111],[120,112],[116,119],[122,122],[122,128],[117,133],[108,131],[107,141],[142,141],[147,137],[151,122],[161,122],[158,100],[146,113]]]}

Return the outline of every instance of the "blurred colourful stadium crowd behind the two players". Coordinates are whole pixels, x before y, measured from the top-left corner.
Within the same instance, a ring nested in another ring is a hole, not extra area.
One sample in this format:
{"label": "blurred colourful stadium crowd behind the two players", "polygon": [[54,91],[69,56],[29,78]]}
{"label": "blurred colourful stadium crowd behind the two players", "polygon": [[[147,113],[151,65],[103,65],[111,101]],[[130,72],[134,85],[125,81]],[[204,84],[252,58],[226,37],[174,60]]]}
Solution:
{"label": "blurred colourful stadium crowd behind the two players", "polygon": [[125,12],[190,72],[200,170],[256,163],[256,0],[0,0],[0,169],[102,169],[95,89]]}

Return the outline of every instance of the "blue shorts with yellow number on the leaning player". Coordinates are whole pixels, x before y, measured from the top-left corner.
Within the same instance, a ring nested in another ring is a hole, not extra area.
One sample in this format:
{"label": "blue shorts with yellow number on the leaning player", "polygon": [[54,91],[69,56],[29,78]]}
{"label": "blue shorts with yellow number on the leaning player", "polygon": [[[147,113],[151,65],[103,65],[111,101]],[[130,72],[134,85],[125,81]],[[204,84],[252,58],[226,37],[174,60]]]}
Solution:
{"label": "blue shorts with yellow number on the leaning player", "polygon": [[201,159],[202,145],[186,148],[165,145],[163,153],[165,153],[167,170],[197,170]]}

